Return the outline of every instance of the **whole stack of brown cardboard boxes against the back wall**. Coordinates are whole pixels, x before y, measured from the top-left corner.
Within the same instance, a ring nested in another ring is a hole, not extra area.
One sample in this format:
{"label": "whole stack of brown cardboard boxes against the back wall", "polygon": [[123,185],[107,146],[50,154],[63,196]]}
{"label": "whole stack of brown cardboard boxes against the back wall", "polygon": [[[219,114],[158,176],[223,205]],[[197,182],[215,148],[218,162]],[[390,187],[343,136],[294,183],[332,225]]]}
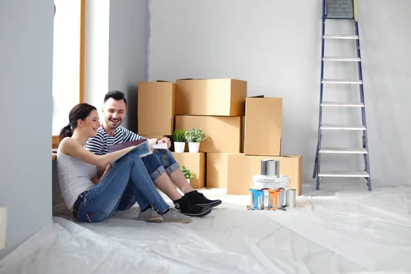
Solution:
{"label": "whole stack of brown cardboard boxes against the back wall", "polygon": [[[173,155],[192,170],[193,188],[227,188],[227,194],[247,195],[262,159],[280,162],[281,175],[301,194],[301,155],[281,155],[282,98],[247,97],[247,82],[239,79],[179,79],[140,82],[138,134],[171,136],[174,129],[197,127],[208,136],[199,153]],[[173,151],[173,147],[171,147]]]}

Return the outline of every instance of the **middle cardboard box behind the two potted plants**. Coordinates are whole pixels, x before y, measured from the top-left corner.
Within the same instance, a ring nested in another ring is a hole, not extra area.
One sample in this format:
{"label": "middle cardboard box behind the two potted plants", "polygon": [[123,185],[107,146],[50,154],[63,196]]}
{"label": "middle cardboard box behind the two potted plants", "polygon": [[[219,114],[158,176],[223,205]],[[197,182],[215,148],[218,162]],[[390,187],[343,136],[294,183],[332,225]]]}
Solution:
{"label": "middle cardboard box behind the two potted plants", "polygon": [[[175,116],[175,129],[190,129],[196,127],[208,137],[200,144],[200,152],[231,152],[241,151],[242,117],[227,116]],[[186,146],[188,149],[188,146]],[[188,151],[188,150],[187,150]]]}

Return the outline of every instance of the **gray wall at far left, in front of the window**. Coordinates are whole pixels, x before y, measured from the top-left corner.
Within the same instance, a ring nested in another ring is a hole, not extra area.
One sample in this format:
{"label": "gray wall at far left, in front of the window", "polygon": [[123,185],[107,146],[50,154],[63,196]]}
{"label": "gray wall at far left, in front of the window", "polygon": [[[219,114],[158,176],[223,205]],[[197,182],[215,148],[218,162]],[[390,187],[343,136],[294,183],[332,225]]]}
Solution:
{"label": "gray wall at far left, in front of the window", "polygon": [[2,258],[51,223],[53,0],[1,1],[0,40]]}

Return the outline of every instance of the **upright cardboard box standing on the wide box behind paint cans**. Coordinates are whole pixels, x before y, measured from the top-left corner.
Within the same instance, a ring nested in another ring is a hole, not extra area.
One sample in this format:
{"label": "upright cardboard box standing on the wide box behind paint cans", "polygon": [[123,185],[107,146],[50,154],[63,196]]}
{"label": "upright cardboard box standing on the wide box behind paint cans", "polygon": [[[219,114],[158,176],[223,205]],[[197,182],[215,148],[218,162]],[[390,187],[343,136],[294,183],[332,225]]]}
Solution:
{"label": "upright cardboard box standing on the wide box behind paint cans", "polygon": [[249,97],[245,103],[245,155],[281,155],[282,98]]}

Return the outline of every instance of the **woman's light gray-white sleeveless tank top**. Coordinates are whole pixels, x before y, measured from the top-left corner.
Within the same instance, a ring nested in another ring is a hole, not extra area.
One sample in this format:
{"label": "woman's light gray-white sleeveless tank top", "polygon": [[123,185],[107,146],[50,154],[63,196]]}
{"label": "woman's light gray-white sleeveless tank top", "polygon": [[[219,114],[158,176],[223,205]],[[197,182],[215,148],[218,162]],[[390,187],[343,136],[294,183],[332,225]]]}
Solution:
{"label": "woman's light gray-white sleeveless tank top", "polygon": [[60,148],[56,164],[62,197],[70,209],[80,193],[95,186],[92,178],[97,175],[97,167],[62,153]]}

